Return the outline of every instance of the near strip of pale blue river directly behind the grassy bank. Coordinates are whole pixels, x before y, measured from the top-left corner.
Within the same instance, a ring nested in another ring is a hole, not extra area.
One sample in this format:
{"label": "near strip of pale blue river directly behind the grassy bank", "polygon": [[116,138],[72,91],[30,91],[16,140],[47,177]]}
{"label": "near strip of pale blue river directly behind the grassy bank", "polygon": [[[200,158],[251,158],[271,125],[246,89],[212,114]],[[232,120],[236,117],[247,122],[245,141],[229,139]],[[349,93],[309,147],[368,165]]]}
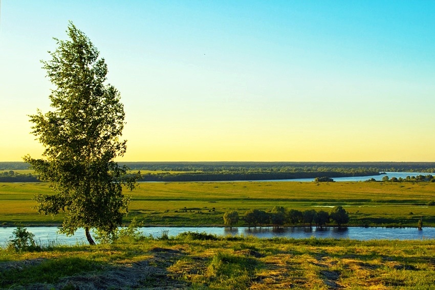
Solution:
{"label": "near strip of pale blue river directly behind the grassy bank", "polygon": [[[15,228],[0,228],[0,245],[5,246]],[[39,244],[46,244],[48,241],[55,241],[57,244],[81,244],[87,243],[84,230],[77,231],[72,237],[57,234],[56,227],[29,227],[27,230],[36,236]],[[176,236],[182,232],[206,232],[215,235],[252,235],[259,238],[287,237],[287,238],[349,238],[357,240],[389,239],[389,240],[419,240],[435,239],[435,228],[282,228],[278,231],[272,228],[222,228],[222,227],[146,227],[141,228],[146,235],[160,237],[166,232],[169,236]]]}

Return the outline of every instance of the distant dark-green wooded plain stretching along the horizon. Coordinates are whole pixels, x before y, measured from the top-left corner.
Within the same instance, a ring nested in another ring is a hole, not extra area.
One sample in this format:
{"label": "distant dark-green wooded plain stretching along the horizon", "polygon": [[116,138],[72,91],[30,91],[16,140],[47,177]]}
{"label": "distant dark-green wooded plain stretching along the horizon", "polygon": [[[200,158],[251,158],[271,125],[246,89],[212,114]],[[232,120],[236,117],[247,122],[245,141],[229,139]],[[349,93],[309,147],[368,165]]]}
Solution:
{"label": "distant dark-green wooded plain stretching along the horizon", "polygon": [[[140,181],[246,181],[378,175],[381,172],[435,172],[435,162],[124,162],[142,170]],[[24,162],[0,162],[0,182],[36,182]],[[156,172],[153,172],[156,171]]]}

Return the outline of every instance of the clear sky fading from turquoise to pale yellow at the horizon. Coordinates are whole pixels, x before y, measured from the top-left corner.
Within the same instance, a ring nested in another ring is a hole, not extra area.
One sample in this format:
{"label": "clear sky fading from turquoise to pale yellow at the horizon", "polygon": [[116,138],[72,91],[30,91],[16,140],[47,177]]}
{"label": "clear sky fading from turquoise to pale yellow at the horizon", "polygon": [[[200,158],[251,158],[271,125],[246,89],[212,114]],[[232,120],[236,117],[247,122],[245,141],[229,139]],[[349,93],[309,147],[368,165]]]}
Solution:
{"label": "clear sky fading from turquoise to pale yellow at the horizon", "polygon": [[435,161],[435,1],[0,3],[0,161],[42,147],[68,21],[125,105],[119,161]]}

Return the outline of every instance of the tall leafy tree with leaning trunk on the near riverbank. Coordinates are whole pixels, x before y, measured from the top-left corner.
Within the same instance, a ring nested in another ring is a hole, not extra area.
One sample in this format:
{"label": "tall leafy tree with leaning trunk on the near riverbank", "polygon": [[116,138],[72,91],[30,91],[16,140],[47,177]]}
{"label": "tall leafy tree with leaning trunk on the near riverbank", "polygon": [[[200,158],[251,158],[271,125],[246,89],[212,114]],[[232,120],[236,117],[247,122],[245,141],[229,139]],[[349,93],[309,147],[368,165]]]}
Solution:
{"label": "tall leafy tree with leaning trunk on the near riverbank", "polygon": [[[122,157],[126,141],[120,141],[124,108],[120,94],[104,84],[107,65],[90,39],[70,22],[69,40],[59,40],[51,60],[41,61],[55,85],[50,95],[52,111],[31,115],[32,133],[45,146],[44,159],[31,164],[42,181],[50,182],[54,193],[34,199],[39,213],[65,212],[61,233],[73,235],[84,228],[90,244],[94,228],[113,235],[127,213],[129,199],[124,186],[133,190],[138,175],[126,177],[126,167],[114,159]],[[138,173],[139,174],[139,173]]]}

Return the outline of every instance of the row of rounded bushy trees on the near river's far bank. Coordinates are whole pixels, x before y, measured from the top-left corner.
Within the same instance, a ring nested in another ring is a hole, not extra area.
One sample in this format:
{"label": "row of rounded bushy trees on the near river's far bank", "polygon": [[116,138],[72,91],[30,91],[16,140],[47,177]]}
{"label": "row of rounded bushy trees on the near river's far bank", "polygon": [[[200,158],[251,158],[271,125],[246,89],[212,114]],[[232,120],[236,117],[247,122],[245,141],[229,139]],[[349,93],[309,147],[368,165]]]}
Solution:
{"label": "row of rounded bushy trees on the near river's far bank", "polygon": [[[236,211],[227,212],[224,214],[224,224],[226,226],[235,226],[239,221],[239,216]],[[331,212],[323,210],[316,211],[309,209],[299,211],[295,209],[285,209],[284,207],[276,206],[270,212],[259,209],[250,209],[245,212],[242,219],[248,227],[263,227],[273,226],[275,228],[284,225],[305,225],[312,227],[323,227],[333,220],[338,227],[349,222],[349,213],[342,207],[336,206]]]}

